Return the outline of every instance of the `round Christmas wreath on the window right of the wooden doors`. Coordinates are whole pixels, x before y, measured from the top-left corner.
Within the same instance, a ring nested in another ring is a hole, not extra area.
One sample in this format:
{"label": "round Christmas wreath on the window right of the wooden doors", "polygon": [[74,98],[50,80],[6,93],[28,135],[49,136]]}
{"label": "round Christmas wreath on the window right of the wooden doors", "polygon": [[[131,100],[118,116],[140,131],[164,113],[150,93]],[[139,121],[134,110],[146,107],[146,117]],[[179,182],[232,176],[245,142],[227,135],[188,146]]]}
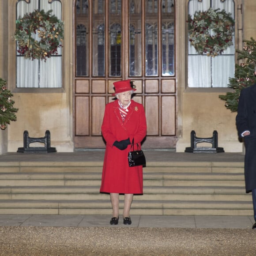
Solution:
{"label": "round Christmas wreath on the window right of the wooden doors", "polygon": [[199,54],[215,57],[233,45],[234,19],[225,10],[196,11],[188,15],[188,35]]}

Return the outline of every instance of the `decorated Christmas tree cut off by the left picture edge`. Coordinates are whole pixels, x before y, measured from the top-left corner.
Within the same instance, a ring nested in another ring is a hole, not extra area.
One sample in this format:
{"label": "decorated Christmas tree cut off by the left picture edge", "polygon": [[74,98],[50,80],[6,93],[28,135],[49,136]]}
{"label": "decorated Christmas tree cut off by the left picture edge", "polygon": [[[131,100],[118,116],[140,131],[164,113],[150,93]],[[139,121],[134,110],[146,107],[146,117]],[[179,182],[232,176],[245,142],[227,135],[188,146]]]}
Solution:
{"label": "decorated Christmas tree cut off by the left picture edge", "polygon": [[10,121],[15,121],[15,112],[18,109],[13,107],[14,101],[11,100],[13,94],[7,89],[6,80],[0,78],[0,128],[6,129],[6,124],[10,124]]}

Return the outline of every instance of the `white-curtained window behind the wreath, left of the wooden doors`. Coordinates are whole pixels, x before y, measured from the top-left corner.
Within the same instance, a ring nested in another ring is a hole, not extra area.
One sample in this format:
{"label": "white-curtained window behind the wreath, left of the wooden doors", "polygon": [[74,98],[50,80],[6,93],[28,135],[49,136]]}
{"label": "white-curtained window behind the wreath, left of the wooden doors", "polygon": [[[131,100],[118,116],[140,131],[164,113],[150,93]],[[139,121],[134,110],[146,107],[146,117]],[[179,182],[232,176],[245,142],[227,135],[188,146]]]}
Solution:
{"label": "white-curtained window behind the wreath, left of the wooden doors", "polygon": [[[16,5],[16,19],[34,10],[53,10],[52,14],[61,20],[60,0],[19,0]],[[35,39],[37,35],[35,34]],[[62,49],[45,60],[25,59],[16,54],[16,87],[18,88],[60,88],[62,87]]]}

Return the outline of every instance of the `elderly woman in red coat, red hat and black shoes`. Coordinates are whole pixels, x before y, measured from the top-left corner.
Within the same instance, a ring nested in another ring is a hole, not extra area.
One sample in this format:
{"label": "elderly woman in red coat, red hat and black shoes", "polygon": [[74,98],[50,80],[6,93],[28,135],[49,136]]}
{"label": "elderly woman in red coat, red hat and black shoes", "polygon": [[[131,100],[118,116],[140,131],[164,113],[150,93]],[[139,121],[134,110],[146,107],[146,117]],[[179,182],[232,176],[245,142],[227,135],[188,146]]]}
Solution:
{"label": "elderly woman in red coat, red hat and black shoes", "polygon": [[146,116],[143,105],[131,99],[136,90],[131,80],[114,82],[117,100],[105,107],[102,122],[102,136],[106,141],[100,192],[110,194],[113,209],[111,225],[119,220],[119,194],[124,194],[123,222],[132,223],[130,208],[133,194],[143,194],[143,166],[129,167],[130,144],[140,145],[147,133]]}

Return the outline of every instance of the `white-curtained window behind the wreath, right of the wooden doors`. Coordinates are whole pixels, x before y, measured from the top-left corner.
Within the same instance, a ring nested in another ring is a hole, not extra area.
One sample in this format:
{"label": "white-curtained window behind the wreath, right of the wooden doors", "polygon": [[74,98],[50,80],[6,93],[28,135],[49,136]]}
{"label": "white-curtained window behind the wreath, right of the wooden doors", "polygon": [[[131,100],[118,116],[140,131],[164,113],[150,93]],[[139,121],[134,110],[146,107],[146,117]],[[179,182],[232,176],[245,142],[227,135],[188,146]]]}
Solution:
{"label": "white-curtained window behind the wreath, right of the wooden doors", "polygon": [[[209,8],[225,10],[234,19],[235,5],[233,0],[190,0],[188,14],[193,17],[195,11],[207,11]],[[235,35],[233,45],[221,55],[211,57],[198,54],[188,42],[188,87],[227,87],[229,78],[235,70]]]}

